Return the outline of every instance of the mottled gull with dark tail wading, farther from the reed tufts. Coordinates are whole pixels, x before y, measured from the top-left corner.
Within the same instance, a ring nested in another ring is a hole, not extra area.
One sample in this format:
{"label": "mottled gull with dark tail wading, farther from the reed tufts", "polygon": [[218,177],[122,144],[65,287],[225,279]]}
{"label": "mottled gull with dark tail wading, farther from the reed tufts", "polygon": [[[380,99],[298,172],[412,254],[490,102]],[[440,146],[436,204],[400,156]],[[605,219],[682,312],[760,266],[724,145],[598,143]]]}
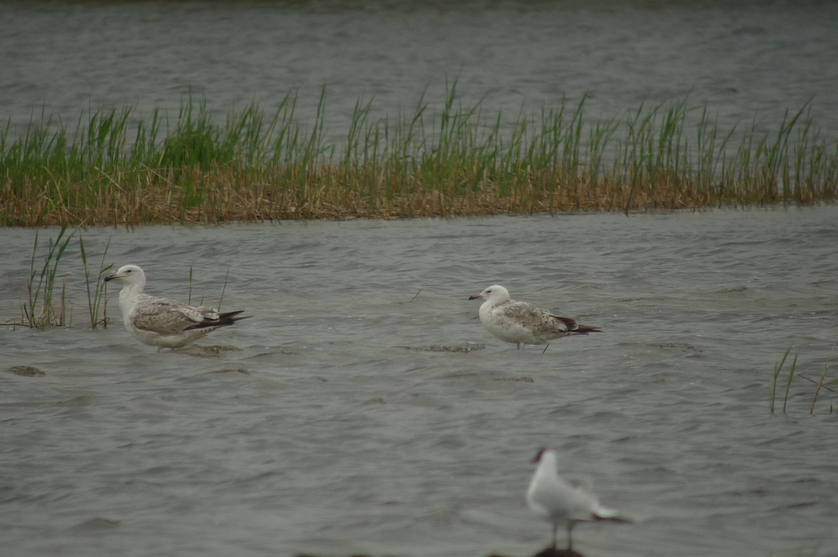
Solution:
{"label": "mottled gull with dark tail wading, farther from the reed tufts", "polygon": [[480,305],[480,322],[501,341],[512,342],[519,349],[521,343],[544,344],[562,336],[602,332],[598,327],[579,325],[570,317],[553,315],[537,305],[510,299],[509,290],[499,284],[468,299],[486,300]]}

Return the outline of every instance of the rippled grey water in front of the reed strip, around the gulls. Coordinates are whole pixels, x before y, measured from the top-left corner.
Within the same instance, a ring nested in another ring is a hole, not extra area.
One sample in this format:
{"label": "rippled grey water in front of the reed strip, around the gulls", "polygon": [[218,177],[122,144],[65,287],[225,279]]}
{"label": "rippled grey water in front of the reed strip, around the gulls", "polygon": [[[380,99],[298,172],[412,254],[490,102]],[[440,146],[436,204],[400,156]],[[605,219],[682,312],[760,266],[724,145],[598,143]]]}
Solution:
{"label": "rippled grey water in front of the reed strip, around the gulls", "polygon": [[[588,557],[835,554],[838,209],[143,226],[82,232],[147,290],[253,315],[201,344],[134,341],[108,293],[85,326],[0,330],[0,543],[12,555],[531,555],[535,451],[632,525],[581,525]],[[57,231],[41,230],[45,242]],[[0,321],[34,231],[0,230]],[[516,351],[468,295],[512,294],[603,328]],[[793,352],[794,353],[794,352]],[[28,365],[43,376],[7,371]],[[832,363],[834,367],[834,362]],[[835,373],[829,373],[835,377]],[[781,375],[784,381],[785,372]],[[833,388],[835,385],[833,383]],[[779,407],[778,407],[779,411]]]}

